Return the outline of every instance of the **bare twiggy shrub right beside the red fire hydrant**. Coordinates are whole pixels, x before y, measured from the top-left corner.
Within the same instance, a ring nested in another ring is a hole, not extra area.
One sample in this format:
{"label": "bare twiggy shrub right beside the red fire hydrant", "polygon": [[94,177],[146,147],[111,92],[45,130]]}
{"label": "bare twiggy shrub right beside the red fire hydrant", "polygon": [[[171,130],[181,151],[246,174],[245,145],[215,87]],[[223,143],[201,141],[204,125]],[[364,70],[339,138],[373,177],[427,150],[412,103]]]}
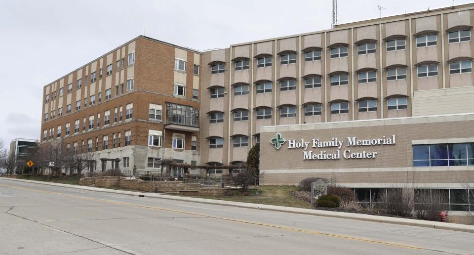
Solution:
{"label": "bare twiggy shrub right beside the red fire hydrant", "polygon": [[449,209],[449,198],[440,189],[418,189],[415,198],[416,217],[420,219],[440,221],[439,213]]}

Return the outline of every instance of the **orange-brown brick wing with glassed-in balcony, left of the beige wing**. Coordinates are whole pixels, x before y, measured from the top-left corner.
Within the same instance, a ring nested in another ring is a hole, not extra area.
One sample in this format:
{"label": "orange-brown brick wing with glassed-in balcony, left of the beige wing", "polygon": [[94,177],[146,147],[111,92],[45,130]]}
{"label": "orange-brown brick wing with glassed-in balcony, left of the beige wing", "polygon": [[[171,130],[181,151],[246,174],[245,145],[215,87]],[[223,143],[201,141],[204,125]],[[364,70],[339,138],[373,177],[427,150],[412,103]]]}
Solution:
{"label": "orange-brown brick wing with glassed-in balcony, left of the beige wing", "polygon": [[201,53],[148,37],[44,86],[41,141],[97,152],[98,170],[199,164]]}

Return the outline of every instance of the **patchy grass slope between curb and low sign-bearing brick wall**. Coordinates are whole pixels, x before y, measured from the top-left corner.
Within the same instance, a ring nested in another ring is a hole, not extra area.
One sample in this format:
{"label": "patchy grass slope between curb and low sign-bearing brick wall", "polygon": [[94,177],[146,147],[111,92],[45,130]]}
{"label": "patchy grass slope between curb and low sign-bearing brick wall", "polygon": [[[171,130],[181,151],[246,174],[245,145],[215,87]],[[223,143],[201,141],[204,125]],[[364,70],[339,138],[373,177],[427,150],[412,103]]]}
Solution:
{"label": "patchy grass slope between curb and low sign-bearing brick wall", "polygon": [[249,196],[199,196],[198,198],[314,209],[310,203],[291,196],[291,191],[298,190],[298,187],[256,186],[255,188],[257,188],[256,191],[251,191],[255,194]]}

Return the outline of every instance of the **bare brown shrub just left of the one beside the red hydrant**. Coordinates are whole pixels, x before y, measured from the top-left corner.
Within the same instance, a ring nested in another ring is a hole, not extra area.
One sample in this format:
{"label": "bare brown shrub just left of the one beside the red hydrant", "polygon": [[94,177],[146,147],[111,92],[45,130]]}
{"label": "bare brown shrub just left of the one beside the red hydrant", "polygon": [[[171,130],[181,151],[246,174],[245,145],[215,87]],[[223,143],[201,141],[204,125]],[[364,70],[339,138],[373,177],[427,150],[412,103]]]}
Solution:
{"label": "bare brown shrub just left of the one beside the red hydrant", "polygon": [[412,217],[413,216],[413,195],[411,192],[403,192],[401,188],[388,188],[387,192],[380,195],[378,205],[381,211],[386,214]]}

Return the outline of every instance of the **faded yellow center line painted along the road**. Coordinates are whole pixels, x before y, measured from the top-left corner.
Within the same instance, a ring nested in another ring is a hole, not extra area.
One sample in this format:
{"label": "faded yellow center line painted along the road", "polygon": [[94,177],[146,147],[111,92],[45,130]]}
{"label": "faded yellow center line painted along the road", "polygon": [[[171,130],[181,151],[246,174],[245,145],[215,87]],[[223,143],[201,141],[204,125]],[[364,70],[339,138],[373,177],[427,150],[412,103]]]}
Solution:
{"label": "faded yellow center line painted along the road", "polygon": [[164,209],[164,208],[158,208],[158,207],[152,207],[152,206],[143,206],[143,205],[131,204],[131,203],[126,203],[126,202],[112,201],[112,200],[107,200],[107,199],[71,195],[71,194],[66,194],[66,193],[61,193],[61,192],[56,192],[56,191],[46,191],[46,190],[40,190],[40,189],[25,188],[25,187],[19,187],[19,186],[7,186],[7,185],[0,185],[0,187],[11,187],[11,188],[19,188],[19,189],[25,189],[25,190],[34,190],[34,191],[40,191],[40,192],[44,192],[44,193],[59,194],[59,195],[64,195],[64,196],[69,196],[69,197],[75,197],[75,198],[81,198],[81,199],[87,199],[87,200],[94,200],[94,201],[105,202],[105,203],[110,203],[110,204],[119,204],[119,205],[134,206],[134,207],[140,207],[140,208],[148,208],[148,209],[160,210],[160,211],[172,212],[172,213],[184,213],[184,214],[188,214],[188,215],[209,217],[209,218],[213,218],[213,219],[220,219],[220,220],[234,221],[234,222],[240,222],[240,223],[245,223],[245,224],[252,224],[252,225],[257,225],[257,226],[265,226],[265,227],[271,227],[271,228],[277,228],[277,229],[284,229],[284,230],[295,231],[295,232],[306,233],[306,234],[336,237],[336,238],[342,238],[342,239],[348,239],[348,240],[354,240],[354,241],[360,241],[360,242],[368,242],[368,243],[374,243],[374,244],[381,244],[381,245],[388,245],[388,246],[395,246],[395,247],[401,247],[401,248],[407,248],[407,249],[424,250],[421,247],[416,247],[416,246],[411,246],[411,245],[403,245],[403,244],[396,244],[396,243],[390,243],[390,242],[378,241],[378,240],[372,240],[372,239],[366,239],[366,238],[358,238],[358,237],[352,237],[352,236],[323,233],[323,232],[318,232],[318,231],[313,231],[313,230],[306,230],[306,229],[298,229],[298,228],[292,228],[292,227],[271,225],[271,224],[252,222],[252,221],[247,221],[247,220],[224,218],[224,217],[218,217],[218,216],[213,216],[213,215],[208,215],[208,214],[189,213],[189,212],[183,212],[183,211],[178,211],[178,210],[171,210],[171,209]]}

